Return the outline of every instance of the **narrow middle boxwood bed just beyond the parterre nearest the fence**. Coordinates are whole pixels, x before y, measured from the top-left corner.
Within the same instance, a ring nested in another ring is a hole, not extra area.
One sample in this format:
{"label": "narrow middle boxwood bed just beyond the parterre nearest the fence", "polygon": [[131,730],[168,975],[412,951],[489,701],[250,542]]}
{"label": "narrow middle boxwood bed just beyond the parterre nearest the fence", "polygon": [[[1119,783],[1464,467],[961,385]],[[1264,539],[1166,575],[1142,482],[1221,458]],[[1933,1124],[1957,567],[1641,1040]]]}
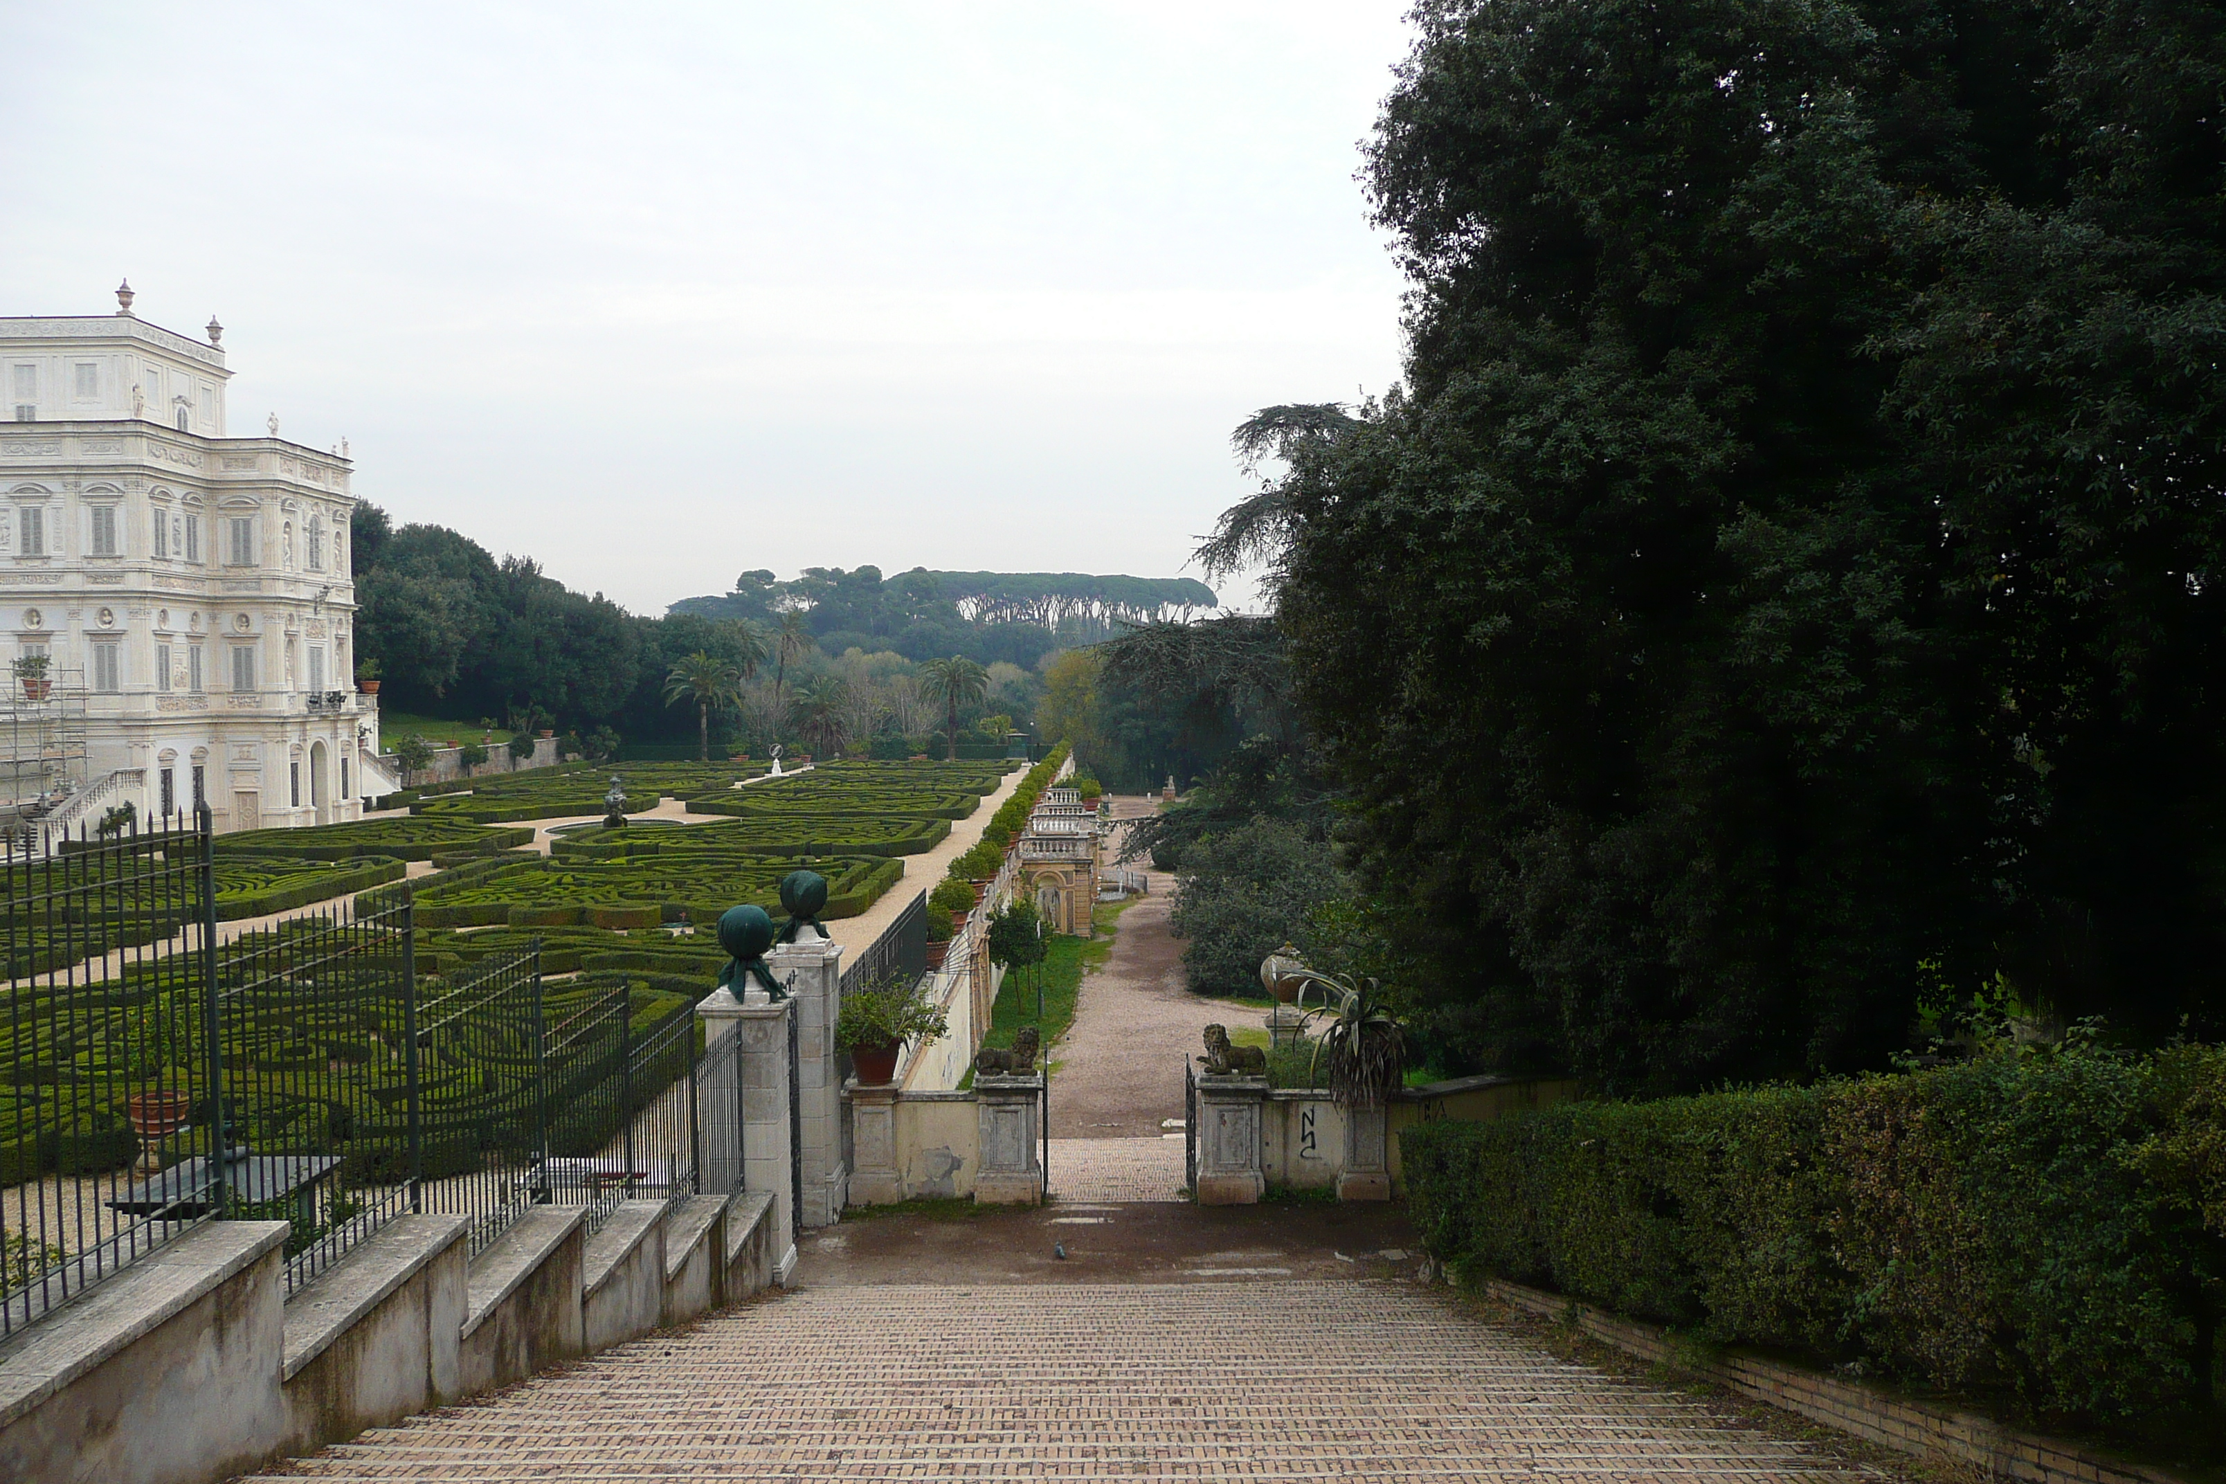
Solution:
{"label": "narrow middle boxwood bed just beyond the parterre nearest the fence", "polygon": [[[416,921],[425,928],[510,923],[514,928],[654,928],[666,921],[717,921],[737,903],[779,908],[790,857],[697,850],[632,861],[552,857],[521,861],[465,879],[416,888]],[[815,857],[828,879],[821,917],[857,917],[904,874],[890,857]]]}

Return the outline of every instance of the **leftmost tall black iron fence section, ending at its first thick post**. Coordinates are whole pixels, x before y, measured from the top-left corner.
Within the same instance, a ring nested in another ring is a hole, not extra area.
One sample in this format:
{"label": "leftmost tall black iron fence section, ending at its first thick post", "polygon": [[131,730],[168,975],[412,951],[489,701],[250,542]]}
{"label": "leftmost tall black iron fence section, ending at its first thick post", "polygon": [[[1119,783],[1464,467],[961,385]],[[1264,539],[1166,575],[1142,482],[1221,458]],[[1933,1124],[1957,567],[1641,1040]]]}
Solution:
{"label": "leftmost tall black iron fence section, ending at its first thick post", "polygon": [[211,1215],[149,1201],[209,1152],[207,814],[0,843],[0,1335]]}

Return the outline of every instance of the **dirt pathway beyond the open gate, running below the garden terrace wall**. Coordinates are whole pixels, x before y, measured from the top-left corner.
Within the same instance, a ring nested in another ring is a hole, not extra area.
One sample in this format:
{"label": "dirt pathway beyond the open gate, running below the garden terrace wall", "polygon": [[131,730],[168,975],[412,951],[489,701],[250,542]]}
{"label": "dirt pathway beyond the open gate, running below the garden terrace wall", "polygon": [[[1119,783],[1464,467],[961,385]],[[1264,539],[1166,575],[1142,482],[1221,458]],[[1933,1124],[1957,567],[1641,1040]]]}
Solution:
{"label": "dirt pathway beyond the open gate, running below the garden terrace wall", "polygon": [[[1151,799],[1115,799],[1115,819],[1149,814]],[[1144,865],[1131,863],[1131,870]],[[1146,868],[1149,894],[1120,917],[1113,952],[1082,981],[1075,1023],[1053,1052],[1053,1139],[1158,1137],[1182,1117],[1182,1061],[1209,1023],[1255,1026],[1260,1010],[1200,999],[1182,981],[1182,943],[1166,930],[1175,879]]]}

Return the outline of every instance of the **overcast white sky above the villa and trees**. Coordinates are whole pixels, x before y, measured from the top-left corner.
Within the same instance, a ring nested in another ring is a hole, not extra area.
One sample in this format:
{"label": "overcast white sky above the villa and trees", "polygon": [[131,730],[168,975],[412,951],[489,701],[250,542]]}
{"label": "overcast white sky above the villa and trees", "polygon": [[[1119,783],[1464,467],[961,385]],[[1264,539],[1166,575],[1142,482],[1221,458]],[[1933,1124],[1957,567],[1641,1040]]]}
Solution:
{"label": "overcast white sky above the villa and trees", "polygon": [[234,434],[637,612],[1173,576],[1240,418],[1398,372],[1402,11],[0,0],[0,314],[214,311]]}

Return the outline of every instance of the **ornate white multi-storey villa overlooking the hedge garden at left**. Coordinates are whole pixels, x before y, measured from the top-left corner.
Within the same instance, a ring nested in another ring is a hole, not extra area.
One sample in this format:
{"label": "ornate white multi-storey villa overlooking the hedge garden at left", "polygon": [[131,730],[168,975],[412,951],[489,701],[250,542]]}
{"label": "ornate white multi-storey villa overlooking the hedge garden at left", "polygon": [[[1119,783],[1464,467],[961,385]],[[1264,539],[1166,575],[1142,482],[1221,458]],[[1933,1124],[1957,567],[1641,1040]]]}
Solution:
{"label": "ornate white multi-storey villa overlooking the hedge garden at left", "polygon": [[[349,461],[225,436],[223,325],[0,318],[0,823],[356,819]],[[36,674],[38,656],[47,659]],[[29,663],[27,663],[29,661]]]}

